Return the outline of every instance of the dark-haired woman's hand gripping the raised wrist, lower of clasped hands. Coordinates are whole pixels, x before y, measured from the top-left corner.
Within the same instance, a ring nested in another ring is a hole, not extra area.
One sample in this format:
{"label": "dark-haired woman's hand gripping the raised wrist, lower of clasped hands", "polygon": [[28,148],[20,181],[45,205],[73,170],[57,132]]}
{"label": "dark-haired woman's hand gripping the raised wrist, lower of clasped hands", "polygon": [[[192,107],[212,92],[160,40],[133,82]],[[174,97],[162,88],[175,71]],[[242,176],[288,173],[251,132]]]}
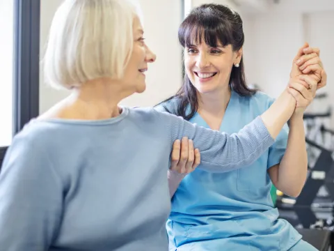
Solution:
{"label": "dark-haired woman's hand gripping the raised wrist, lower of clasped hands", "polygon": [[306,107],[308,107],[315,98],[317,80],[309,75],[299,75],[290,79],[287,91],[296,99],[294,114],[303,116]]}

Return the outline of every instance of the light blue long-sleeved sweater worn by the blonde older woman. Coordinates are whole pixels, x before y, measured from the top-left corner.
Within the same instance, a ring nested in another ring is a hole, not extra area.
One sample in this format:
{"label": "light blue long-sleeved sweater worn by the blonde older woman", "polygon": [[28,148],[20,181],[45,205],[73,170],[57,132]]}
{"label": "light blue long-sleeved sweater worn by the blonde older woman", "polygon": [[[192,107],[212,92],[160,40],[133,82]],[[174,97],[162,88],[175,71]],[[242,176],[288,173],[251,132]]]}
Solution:
{"label": "light blue long-sleeved sweater worn by the blonde older woman", "polygon": [[31,121],[1,170],[0,250],[168,250],[166,171],[182,136],[208,172],[249,165],[274,142],[260,117],[230,136],[152,108]]}

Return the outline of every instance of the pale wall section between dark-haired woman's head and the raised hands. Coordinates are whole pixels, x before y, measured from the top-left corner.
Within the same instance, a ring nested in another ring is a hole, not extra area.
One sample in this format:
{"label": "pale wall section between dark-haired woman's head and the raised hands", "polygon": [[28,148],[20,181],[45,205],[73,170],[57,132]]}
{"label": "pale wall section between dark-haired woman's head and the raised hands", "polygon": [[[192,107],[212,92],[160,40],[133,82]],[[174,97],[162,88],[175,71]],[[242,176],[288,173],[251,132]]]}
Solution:
{"label": "pale wall section between dark-haired woman's head and the raised hands", "polygon": [[303,45],[302,15],[244,17],[245,68],[249,84],[277,97],[289,81],[292,60]]}

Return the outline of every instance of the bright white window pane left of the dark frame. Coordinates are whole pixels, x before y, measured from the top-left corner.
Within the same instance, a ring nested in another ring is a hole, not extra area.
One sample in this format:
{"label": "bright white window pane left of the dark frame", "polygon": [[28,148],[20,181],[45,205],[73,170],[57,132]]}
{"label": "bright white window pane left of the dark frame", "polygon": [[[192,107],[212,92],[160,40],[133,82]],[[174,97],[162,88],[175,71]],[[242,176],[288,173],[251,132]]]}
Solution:
{"label": "bright white window pane left of the dark frame", "polygon": [[0,147],[13,136],[14,0],[0,0]]}

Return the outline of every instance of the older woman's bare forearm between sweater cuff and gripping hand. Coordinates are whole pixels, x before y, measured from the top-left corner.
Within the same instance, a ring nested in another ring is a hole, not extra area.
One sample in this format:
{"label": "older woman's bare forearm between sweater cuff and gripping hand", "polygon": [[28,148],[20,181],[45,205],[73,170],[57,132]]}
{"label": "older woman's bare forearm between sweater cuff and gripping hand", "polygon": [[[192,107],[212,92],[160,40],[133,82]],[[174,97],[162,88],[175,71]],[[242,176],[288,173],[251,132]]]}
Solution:
{"label": "older woman's bare forearm between sweater cuff and gripping hand", "polygon": [[280,130],[290,119],[296,107],[296,100],[286,90],[277,98],[273,105],[261,115],[264,125],[271,137],[276,139]]}

